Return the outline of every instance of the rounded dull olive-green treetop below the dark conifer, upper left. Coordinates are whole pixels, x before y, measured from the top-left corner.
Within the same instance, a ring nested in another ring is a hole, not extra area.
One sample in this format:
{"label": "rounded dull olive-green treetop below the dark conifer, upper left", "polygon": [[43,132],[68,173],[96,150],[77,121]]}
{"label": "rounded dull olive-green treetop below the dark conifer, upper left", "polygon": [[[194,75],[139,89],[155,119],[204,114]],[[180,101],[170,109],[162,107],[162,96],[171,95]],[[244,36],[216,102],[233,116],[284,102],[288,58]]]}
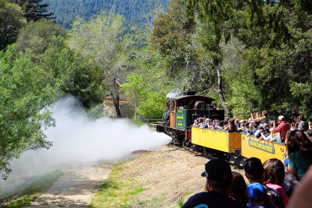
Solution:
{"label": "rounded dull olive-green treetop below the dark conifer, upper left", "polygon": [[53,36],[65,36],[65,34],[66,30],[51,20],[30,21],[19,31],[16,49],[22,52],[32,51],[38,55],[47,49]]}

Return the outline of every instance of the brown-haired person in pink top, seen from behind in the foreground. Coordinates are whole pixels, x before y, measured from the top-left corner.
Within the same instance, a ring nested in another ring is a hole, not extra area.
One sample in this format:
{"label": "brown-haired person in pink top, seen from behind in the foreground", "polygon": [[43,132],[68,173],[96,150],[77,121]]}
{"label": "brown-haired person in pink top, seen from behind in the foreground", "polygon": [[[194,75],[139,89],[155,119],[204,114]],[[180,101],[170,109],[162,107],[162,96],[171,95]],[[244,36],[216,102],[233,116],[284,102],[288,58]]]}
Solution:
{"label": "brown-haired person in pink top, seen from behind in the foreground", "polygon": [[[263,163],[264,168],[264,184],[280,193],[284,206],[287,207],[289,198],[286,190],[280,186],[284,182],[285,171],[284,164],[279,159],[268,159]],[[289,191],[289,190],[287,190]]]}

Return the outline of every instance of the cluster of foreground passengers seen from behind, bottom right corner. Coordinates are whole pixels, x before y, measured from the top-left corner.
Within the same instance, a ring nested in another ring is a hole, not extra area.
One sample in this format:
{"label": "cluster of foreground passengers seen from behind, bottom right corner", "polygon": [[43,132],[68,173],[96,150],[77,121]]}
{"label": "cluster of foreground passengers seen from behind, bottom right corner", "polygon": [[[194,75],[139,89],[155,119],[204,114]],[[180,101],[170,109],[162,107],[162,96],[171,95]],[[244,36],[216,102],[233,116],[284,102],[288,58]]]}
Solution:
{"label": "cluster of foreground passengers seen from behind, bottom right corner", "polygon": [[288,172],[288,166],[289,158],[284,162],[268,159],[263,164],[256,157],[248,158],[243,164],[247,185],[240,173],[232,172],[228,162],[212,159],[201,174],[206,177],[205,191],[189,198],[183,208],[311,207],[312,199],[307,197],[310,190],[304,192],[309,186],[304,182],[312,182],[312,167],[308,178],[303,179],[304,176]]}

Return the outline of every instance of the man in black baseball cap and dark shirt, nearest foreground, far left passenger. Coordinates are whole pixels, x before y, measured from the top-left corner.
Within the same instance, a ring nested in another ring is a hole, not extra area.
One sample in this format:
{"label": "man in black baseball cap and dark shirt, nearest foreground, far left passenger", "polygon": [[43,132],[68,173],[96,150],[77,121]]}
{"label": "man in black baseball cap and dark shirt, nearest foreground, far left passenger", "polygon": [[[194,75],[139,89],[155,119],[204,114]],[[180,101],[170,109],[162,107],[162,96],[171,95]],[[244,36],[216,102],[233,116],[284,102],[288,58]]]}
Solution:
{"label": "man in black baseball cap and dark shirt, nearest foreground, far left passenger", "polygon": [[183,205],[183,208],[246,208],[229,197],[232,185],[230,165],[223,159],[212,159],[205,165],[206,189],[208,192],[195,194]]}

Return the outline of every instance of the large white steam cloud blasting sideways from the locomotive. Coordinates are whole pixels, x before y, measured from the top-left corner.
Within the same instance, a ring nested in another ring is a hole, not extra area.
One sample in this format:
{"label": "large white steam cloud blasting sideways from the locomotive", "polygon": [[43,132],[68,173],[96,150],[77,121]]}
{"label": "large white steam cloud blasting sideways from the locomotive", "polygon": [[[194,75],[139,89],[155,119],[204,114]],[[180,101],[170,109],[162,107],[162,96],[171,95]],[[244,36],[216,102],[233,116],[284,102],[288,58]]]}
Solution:
{"label": "large white steam cloud blasting sideways from the locomotive", "polygon": [[11,161],[9,175],[37,175],[51,166],[116,161],[136,150],[156,150],[171,142],[171,138],[149,129],[137,127],[126,119],[102,117],[90,120],[81,113],[80,103],[67,96],[51,109],[56,127],[45,130],[53,142],[51,149],[25,152],[20,159]]}

